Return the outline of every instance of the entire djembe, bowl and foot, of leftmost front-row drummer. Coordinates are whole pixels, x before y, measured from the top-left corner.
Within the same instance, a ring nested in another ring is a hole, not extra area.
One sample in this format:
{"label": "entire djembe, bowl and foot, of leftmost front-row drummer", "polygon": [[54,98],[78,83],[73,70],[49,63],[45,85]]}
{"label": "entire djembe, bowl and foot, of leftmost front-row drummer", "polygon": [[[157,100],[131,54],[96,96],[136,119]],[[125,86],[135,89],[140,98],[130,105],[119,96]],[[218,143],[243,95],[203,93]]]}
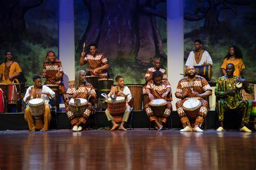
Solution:
{"label": "entire djembe, bowl and foot, of leftmost front-row drummer", "polygon": [[34,98],[29,101],[29,109],[32,116],[35,118],[36,129],[42,129],[44,126],[43,115],[44,115],[44,100],[42,98]]}

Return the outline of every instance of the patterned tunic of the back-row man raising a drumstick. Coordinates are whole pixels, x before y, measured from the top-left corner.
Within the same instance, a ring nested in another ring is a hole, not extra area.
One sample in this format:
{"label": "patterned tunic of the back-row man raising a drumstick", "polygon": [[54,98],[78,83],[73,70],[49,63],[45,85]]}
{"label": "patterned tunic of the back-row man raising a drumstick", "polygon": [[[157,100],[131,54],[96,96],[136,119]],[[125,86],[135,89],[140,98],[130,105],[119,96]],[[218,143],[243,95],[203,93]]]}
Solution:
{"label": "patterned tunic of the back-row man raising a drumstick", "polygon": [[[84,56],[84,63],[89,62],[90,69],[96,69],[99,67],[104,66],[107,64],[107,58],[102,53],[97,53],[94,57],[92,54],[86,54]],[[91,75],[99,76],[100,79],[106,79],[107,78],[107,70],[99,70],[99,73],[93,74],[91,72]]]}

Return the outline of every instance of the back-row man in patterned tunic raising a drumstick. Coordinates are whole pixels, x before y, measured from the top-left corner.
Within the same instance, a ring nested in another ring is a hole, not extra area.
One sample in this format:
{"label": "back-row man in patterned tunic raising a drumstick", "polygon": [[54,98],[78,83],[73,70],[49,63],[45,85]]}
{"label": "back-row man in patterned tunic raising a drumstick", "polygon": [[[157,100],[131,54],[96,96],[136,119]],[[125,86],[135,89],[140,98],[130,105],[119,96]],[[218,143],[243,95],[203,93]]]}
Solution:
{"label": "back-row man in patterned tunic raising a drumstick", "polygon": [[97,52],[96,44],[89,45],[89,49],[90,53],[88,54],[82,52],[79,60],[80,66],[83,66],[86,64],[86,62],[88,62],[90,66],[90,72],[87,73],[88,76],[95,75],[98,76],[99,79],[107,79],[107,68],[109,68],[107,58],[103,53]]}

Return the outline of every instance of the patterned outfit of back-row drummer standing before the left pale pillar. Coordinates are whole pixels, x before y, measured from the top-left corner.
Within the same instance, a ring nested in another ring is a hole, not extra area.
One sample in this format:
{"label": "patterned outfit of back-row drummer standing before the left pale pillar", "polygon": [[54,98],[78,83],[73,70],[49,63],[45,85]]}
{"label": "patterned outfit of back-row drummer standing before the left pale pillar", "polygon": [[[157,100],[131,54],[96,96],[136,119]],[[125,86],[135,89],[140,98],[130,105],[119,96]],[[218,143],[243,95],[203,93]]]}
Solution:
{"label": "patterned outfit of back-row drummer standing before the left pale pillar", "polygon": [[55,59],[53,62],[49,60],[44,61],[43,65],[43,73],[45,74],[45,85],[52,84],[52,85],[58,85],[59,86],[59,94],[62,96],[63,101],[65,102],[65,107],[68,106],[68,101],[64,97],[66,94],[65,92],[65,86],[63,84],[63,78],[57,79],[56,74],[57,73],[63,74],[62,69],[62,62],[60,60]]}

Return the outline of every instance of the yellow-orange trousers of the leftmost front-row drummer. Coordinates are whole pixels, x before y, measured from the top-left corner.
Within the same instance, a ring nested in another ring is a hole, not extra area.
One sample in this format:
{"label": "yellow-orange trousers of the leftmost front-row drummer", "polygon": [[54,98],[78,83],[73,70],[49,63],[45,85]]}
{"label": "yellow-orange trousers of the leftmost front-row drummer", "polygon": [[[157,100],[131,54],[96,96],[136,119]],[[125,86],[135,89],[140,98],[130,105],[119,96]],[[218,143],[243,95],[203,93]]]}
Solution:
{"label": "yellow-orange trousers of the leftmost front-row drummer", "polygon": [[[31,115],[29,107],[26,107],[25,115],[24,115],[25,121],[28,122],[29,130],[32,129],[35,130],[35,123],[33,116]],[[51,110],[49,105],[45,105],[44,107],[44,129],[49,130],[49,123],[51,121]]]}

